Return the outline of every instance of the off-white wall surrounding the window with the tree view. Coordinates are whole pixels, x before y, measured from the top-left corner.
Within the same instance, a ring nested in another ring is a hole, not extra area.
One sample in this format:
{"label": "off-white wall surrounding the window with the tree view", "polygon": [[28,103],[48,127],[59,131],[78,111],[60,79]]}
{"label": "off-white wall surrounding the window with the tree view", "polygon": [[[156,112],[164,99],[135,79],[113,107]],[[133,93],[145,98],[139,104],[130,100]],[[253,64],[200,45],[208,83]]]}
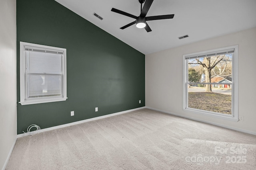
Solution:
{"label": "off-white wall surrounding the window with the tree view", "polygon": [[[232,45],[239,45],[238,107],[244,121],[226,121],[183,111],[182,55]],[[145,64],[146,107],[256,134],[256,27],[149,54],[146,55]]]}

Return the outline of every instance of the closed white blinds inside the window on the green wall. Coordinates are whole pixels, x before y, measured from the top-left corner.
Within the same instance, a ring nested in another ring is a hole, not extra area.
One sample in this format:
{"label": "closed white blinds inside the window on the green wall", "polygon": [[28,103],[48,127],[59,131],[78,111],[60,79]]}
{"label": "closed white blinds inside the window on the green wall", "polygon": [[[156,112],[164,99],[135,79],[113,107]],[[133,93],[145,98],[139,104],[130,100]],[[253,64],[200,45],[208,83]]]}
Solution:
{"label": "closed white blinds inside the window on the green wall", "polygon": [[26,51],[27,98],[62,96],[62,54]]}

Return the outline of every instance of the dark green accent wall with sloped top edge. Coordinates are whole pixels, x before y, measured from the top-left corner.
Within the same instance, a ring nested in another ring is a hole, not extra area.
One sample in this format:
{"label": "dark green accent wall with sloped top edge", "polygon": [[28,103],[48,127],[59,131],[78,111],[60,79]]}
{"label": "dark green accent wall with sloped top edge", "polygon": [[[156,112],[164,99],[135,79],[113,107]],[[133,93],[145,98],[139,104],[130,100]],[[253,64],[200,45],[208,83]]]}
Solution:
{"label": "dark green accent wall with sloped top edge", "polygon": [[18,134],[145,106],[145,55],[54,0],[17,0],[17,102],[20,41],[67,49],[68,99],[18,104]]}

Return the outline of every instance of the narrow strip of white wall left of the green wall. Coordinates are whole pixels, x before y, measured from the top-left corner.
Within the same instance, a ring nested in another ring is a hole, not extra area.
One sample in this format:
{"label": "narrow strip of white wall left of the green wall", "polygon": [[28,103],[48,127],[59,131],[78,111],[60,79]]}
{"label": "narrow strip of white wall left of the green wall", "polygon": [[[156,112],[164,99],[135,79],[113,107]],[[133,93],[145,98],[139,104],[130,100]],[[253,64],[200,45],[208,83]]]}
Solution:
{"label": "narrow strip of white wall left of the green wall", "polygon": [[17,136],[16,0],[0,0],[0,169]]}

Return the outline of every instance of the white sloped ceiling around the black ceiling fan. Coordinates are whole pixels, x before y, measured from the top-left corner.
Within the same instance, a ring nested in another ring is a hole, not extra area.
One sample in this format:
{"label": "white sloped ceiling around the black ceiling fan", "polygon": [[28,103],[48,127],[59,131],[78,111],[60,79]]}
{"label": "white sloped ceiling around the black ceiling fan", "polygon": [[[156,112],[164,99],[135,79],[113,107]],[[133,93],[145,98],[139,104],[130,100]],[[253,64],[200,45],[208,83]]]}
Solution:
{"label": "white sloped ceiling around the black ceiling fan", "polygon": [[[140,15],[138,0],[56,0],[94,25],[150,54],[196,41],[256,27],[256,0],[154,0],[146,16],[175,14],[173,19],[147,21],[147,32],[132,25],[133,18],[111,12],[112,8]],[[101,16],[100,20],[94,12]],[[178,39],[183,35],[185,39]]]}

